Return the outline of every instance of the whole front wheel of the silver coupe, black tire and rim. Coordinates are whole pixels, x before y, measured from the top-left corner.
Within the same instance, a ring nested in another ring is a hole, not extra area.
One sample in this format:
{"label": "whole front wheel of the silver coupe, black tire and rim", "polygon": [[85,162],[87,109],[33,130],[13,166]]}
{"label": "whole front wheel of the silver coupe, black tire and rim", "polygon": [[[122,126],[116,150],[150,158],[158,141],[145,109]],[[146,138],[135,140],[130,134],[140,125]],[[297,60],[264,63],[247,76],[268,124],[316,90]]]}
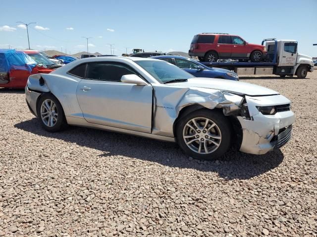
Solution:
{"label": "whole front wheel of the silver coupe, black tire and rim", "polygon": [[188,156],[212,160],[228,151],[231,124],[219,111],[198,110],[179,120],[176,137]]}

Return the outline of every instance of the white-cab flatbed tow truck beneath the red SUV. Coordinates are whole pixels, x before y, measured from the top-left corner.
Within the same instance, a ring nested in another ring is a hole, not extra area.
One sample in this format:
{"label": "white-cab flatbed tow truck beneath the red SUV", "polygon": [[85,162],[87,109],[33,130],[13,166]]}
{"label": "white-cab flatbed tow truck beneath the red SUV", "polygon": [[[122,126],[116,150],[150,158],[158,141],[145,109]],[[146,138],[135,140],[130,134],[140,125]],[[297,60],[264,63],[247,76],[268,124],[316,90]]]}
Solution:
{"label": "white-cab flatbed tow truck beneath the red SUV", "polygon": [[306,78],[308,72],[314,71],[313,58],[297,52],[296,40],[264,39],[262,45],[267,50],[264,61],[254,62],[201,62],[208,67],[225,68],[238,75],[278,75]]}

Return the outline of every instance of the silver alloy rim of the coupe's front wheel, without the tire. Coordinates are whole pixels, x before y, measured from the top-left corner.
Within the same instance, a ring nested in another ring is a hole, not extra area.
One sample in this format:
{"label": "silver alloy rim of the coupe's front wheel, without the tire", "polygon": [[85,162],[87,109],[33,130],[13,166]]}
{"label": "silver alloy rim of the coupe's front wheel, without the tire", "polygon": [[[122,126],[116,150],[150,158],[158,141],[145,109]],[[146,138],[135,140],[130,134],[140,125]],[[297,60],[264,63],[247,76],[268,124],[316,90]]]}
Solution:
{"label": "silver alloy rim of the coupe's front wheel, without the tire", "polygon": [[211,119],[193,118],[184,126],[183,139],[192,151],[210,154],[220,146],[221,132]]}

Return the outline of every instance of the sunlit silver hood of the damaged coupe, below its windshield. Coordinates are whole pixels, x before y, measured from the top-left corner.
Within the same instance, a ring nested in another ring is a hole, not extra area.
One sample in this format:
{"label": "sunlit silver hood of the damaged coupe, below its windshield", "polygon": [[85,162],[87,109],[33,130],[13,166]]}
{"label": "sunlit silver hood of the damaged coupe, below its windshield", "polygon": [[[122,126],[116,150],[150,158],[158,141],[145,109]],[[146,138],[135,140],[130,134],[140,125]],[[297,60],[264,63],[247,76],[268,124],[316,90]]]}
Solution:
{"label": "sunlit silver hood of the damaged coupe, below its windshield", "polygon": [[227,91],[234,94],[241,95],[278,95],[279,93],[265,88],[260,85],[235,81],[226,79],[215,79],[215,78],[191,78],[187,82],[176,82],[168,83],[166,85],[178,85],[185,87],[201,87],[209,89],[217,89],[221,91]]}

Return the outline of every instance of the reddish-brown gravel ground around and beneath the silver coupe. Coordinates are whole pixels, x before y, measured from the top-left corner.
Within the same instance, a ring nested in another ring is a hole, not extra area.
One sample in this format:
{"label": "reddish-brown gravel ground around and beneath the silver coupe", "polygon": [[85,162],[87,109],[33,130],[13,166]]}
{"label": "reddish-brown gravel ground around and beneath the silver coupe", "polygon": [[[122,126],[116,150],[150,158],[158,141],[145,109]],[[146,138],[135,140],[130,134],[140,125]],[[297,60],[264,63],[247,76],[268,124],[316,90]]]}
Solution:
{"label": "reddish-brown gravel ground around and beneath the silver coupe", "polygon": [[177,145],[44,131],[0,89],[0,236],[317,236],[317,71],[242,78],[293,101],[294,136],[263,156],[199,161]]}

